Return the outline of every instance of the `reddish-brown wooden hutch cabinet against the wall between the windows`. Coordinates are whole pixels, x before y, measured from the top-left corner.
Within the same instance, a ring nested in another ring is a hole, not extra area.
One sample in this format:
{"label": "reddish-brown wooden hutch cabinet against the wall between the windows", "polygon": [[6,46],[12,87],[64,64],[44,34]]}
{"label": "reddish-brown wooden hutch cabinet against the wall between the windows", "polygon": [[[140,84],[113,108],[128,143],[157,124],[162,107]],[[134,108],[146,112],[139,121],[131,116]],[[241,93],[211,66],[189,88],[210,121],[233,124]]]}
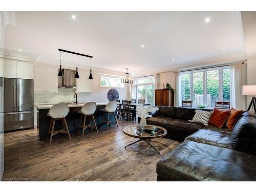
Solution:
{"label": "reddish-brown wooden hutch cabinet against the wall between the windows", "polygon": [[174,90],[155,90],[155,104],[161,106],[174,106]]}

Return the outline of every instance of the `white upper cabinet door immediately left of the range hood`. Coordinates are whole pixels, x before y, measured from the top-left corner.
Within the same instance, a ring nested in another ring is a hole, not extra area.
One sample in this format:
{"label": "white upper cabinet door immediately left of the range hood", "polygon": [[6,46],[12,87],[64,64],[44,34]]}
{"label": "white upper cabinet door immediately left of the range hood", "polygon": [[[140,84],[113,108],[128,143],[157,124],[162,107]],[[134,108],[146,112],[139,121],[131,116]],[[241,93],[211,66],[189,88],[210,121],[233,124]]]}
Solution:
{"label": "white upper cabinet door immediately left of the range hood", "polygon": [[47,69],[46,75],[47,83],[46,89],[49,92],[58,92],[58,69]]}

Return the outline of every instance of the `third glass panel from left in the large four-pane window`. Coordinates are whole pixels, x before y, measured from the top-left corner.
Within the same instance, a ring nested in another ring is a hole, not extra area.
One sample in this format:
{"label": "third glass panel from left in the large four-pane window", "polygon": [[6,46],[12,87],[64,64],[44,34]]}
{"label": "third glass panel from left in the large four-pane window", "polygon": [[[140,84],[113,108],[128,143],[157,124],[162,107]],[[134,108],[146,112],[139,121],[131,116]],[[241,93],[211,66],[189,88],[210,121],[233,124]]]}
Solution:
{"label": "third glass panel from left in the large four-pane window", "polygon": [[207,71],[207,95],[206,106],[215,106],[215,101],[219,101],[219,70]]}

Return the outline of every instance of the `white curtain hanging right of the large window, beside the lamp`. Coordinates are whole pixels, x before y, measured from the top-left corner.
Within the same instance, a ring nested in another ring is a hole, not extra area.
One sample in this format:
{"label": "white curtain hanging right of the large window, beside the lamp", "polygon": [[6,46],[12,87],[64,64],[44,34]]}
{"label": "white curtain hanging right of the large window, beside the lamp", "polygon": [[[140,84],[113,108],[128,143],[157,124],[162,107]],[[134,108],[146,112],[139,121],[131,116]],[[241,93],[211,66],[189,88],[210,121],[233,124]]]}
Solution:
{"label": "white curtain hanging right of the large window, beside the lamp", "polygon": [[242,95],[246,83],[245,69],[246,65],[242,63],[230,66],[230,108],[246,110],[246,98]]}

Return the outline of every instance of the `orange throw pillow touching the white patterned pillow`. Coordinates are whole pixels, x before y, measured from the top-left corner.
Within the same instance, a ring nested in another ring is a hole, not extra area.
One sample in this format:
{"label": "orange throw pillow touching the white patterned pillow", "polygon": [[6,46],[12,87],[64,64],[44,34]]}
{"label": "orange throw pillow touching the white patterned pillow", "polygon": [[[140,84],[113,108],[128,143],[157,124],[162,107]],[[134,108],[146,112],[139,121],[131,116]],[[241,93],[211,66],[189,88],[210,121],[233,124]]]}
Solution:
{"label": "orange throw pillow touching the white patterned pillow", "polygon": [[214,112],[210,116],[209,124],[213,124],[213,125],[221,128],[227,121],[229,114],[230,114],[230,110],[229,111],[221,111],[221,110],[218,110],[215,108]]}

